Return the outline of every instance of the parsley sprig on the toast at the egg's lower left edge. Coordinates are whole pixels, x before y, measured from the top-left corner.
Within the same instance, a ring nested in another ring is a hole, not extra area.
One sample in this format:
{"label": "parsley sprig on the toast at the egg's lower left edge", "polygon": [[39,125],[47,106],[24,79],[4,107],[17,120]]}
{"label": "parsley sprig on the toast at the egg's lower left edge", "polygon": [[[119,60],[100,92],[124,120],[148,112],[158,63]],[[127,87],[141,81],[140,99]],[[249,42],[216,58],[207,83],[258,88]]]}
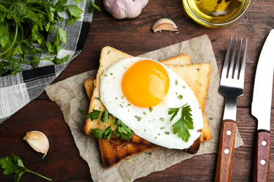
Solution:
{"label": "parsley sprig on the toast at the egg's lower left edge", "polygon": [[[98,111],[96,109],[93,109],[88,115],[86,115],[86,118],[91,118],[91,120],[96,120],[100,117],[103,120],[103,123],[108,123],[111,114],[108,113],[108,111]],[[122,120],[119,120],[118,118],[113,118],[112,123],[109,127],[105,128],[105,130],[99,130],[98,128],[92,129],[91,134],[93,137],[96,137],[98,139],[110,139],[110,137],[113,134],[112,126],[116,125],[117,129],[114,131],[116,137],[122,137],[122,139],[130,139],[131,135],[133,134],[133,131],[127,127]]]}

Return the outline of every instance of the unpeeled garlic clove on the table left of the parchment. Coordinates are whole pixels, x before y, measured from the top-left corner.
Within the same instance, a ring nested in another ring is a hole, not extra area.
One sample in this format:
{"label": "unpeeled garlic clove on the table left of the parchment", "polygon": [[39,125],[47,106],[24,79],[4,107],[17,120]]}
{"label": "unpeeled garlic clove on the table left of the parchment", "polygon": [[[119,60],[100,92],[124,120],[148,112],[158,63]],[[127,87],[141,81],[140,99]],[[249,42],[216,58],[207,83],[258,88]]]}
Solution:
{"label": "unpeeled garlic clove on the table left of the parchment", "polygon": [[49,142],[48,137],[46,137],[44,133],[39,131],[30,131],[27,132],[23,139],[27,141],[27,144],[29,144],[34,151],[44,153],[43,158],[46,156],[46,153],[48,153]]}

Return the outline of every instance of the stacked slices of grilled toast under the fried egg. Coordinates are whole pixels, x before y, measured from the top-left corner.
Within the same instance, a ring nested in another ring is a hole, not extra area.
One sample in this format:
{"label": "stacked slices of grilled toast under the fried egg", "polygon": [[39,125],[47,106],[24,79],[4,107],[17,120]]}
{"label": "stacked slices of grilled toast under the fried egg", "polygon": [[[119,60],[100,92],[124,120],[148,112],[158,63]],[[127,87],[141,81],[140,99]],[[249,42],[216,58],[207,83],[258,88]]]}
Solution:
{"label": "stacked slices of grilled toast under the fried egg", "polygon": [[[91,97],[89,112],[92,111],[92,109],[97,109],[100,111],[105,110],[105,107],[100,102],[100,99],[96,99],[100,98],[98,90],[100,84],[100,75],[105,69],[107,69],[108,66],[126,57],[132,56],[111,47],[103,48],[100,57],[100,67],[98,69],[96,80],[94,80],[94,78],[91,78],[91,80],[87,80],[85,83],[86,92],[91,93],[93,91],[92,96],[90,96],[91,94],[89,95],[89,97]],[[204,115],[204,128],[202,129],[201,137],[197,139],[197,141],[195,141],[195,144],[193,144],[193,146],[186,150],[188,153],[197,153],[197,150],[200,147],[200,141],[208,141],[212,137],[209,130],[208,120],[204,112],[204,106],[207,99],[207,89],[209,87],[209,80],[211,76],[211,65],[208,63],[192,64],[190,57],[184,54],[165,59],[162,61],[162,63],[167,64],[169,69],[178,73],[188,83],[188,85],[193,89],[193,92],[195,93],[195,96],[197,97],[201,106],[202,113]],[[189,65],[186,66],[181,64]],[[94,82],[94,86],[89,84],[89,82]],[[91,129],[98,128],[100,130],[104,130],[105,127],[107,127],[108,125],[109,124],[107,123],[102,123],[100,120],[93,120],[91,122],[90,119],[87,119],[84,130],[86,134],[90,134]],[[132,155],[143,153],[153,148],[159,148],[159,146],[151,144],[150,142],[145,141],[144,139],[141,139],[134,134],[129,141],[117,139],[115,135],[113,135],[113,137],[109,141],[105,139],[99,139],[99,145],[103,165],[106,168],[112,167],[118,162],[129,158]],[[126,150],[119,150],[121,146],[124,146]],[[127,154],[125,155],[124,153]]]}

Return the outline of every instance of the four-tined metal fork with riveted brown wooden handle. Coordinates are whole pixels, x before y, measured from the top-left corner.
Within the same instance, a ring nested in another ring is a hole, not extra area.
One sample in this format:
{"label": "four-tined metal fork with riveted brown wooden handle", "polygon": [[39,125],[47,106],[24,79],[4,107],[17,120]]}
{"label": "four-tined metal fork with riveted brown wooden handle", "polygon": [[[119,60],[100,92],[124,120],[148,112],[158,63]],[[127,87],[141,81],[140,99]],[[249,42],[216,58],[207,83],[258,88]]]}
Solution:
{"label": "four-tined metal fork with riveted brown wooden handle", "polygon": [[[247,39],[244,45],[244,54],[242,56],[242,64],[240,66],[242,38],[240,41],[239,51],[237,53],[237,62],[234,63],[237,49],[237,38],[230,60],[228,69],[228,62],[230,57],[230,48],[233,38],[230,38],[226,59],[223,64],[221,73],[221,81],[219,92],[226,98],[226,104],[223,111],[223,122],[221,127],[220,143],[218,146],[218,159],[216,167],[215,181],[231,181],[231,170],[233,165],[233,154],[236,134],[236,111],[237,98],[244,93],[244,67],[247,57]],[[235,69],[233,73],[233,68]],[[240,69],[240,72],[239,72]]]}

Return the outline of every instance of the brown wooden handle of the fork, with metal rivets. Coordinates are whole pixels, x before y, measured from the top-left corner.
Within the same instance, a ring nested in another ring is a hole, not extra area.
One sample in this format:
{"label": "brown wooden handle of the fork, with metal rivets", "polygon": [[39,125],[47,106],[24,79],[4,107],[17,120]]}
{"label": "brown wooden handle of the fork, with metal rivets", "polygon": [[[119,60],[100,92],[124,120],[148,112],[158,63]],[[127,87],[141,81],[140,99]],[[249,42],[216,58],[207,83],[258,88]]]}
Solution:
{"label": "brown wooden handle of the fork, with metal rivets", "polygon": [[235,135],[235,120],[223,120],[218,146],[215,181],[231,181]]}

